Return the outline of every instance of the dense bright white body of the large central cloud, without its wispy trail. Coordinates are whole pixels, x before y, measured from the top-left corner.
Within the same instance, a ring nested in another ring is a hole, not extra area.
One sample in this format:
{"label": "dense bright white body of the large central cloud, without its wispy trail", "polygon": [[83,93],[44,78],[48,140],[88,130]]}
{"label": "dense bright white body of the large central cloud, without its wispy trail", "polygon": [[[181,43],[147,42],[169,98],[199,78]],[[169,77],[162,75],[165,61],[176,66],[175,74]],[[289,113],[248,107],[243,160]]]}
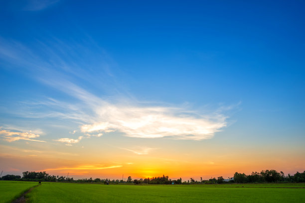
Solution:
{"label": "dense bright white body of the large central cloud, without its wispy trail", "polygon": [[183,108],[124,106],[104,102],[96,106],[96,121],[81,126],[86,132],[120,131],[129,137],[201,140],[226,126],[226,116],[198,114]]}

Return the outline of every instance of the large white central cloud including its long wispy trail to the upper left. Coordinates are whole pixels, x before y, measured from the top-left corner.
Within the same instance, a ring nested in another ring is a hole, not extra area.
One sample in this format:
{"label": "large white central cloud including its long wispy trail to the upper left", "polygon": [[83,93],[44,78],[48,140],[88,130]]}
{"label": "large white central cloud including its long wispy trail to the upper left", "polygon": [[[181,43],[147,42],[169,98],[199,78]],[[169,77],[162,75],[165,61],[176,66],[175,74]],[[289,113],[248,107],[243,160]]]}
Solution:
{"label": "large white central cloud including its long wispy trail to the upper left", "polygon": [[[31,117],[57,117],[75,121],[80,124],[80,132],[87,137],[99,137],[116,131],[137,138],[202,140],[212,138],[227,125],[228,116],[223,114],[226,109],[223,106],[207,113],[188,106],[139,102],[127,96],[121,96],[118,100],[106,100],[72,82],[70,75],[74,74],[80,79],[82,77],[73,72],[73,67],[79,68],[78,65],[65,60],[64,56],[54,54],[51,47],[45,48],[52,57],[52,60],[49,60],[52,63],[49,64],[33,52],[28,51],[30,54],[25,57],[23,52],[16,51],[10,44],[4,45],[0,55],[2,53],[8,57],[2,56],[3,58],[8,58],[11,63],[18,61],[19,65],[24,64],[28,70],[35,67],[38,81],[74,99],[73,103],[70,103],[49,98],[46,102],[41,102],[41,105],[51,110],[32,112]],[[17,47],[27,50],[22,45]],[[78,72],[86,74],[84,70]],[[30,103],[28,105],[30,106]],[[36,103],[33,104],[35,105]],[[29,116],[29,113],[23,113],[23,116]],[[71,144],[79,142],[80,139],[61,138],[56,141]]]}

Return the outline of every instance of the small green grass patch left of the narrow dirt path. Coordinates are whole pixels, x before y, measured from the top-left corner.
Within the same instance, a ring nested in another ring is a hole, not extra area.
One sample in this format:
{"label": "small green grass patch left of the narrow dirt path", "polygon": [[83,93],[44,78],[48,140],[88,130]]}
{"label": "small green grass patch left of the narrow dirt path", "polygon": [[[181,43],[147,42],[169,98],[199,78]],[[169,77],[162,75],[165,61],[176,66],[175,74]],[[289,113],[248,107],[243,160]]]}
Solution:
{"label": "small green grass patch left of the narrow dirt path", "polygon": [[37,182],[0,181],[0,203],[10,203],[36,185]]}

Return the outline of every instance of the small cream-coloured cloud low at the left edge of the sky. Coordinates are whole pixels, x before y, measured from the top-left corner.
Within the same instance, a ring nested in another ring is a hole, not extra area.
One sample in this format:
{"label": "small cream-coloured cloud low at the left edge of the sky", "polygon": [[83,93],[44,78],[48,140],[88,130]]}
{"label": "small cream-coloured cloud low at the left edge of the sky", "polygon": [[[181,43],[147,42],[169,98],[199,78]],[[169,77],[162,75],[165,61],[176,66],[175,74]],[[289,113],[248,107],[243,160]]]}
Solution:
{"label": "small cream-coloured cloud low at the left edge of the sky", "polygon": [[17,141],[17,140],[29,140],[29,141],[35,141],[35,142],[45,142],[45,141],[42,141],[42,140],[32,139],[32,138],[37,138],[40,135],[35,134],[31,131],[29,131],[29,132],[14,132],[14,131],[8,131],[6,129],[1,129],[1,127],[0,127],[0,135],[2,135],[2,137],[8,142]]}

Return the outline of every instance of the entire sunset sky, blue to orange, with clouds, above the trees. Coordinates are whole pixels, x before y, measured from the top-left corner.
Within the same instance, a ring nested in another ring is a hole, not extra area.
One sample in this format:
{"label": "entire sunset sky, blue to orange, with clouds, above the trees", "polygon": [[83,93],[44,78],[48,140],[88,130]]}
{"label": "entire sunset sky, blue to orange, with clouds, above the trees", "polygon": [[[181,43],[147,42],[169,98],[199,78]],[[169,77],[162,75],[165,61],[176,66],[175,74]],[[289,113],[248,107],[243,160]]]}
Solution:
{"label": "entire sunset sky, blue to orange, with clouds, above the trees", "polygon": [[305,2],[0,1],[0,171],[305,170]]}

